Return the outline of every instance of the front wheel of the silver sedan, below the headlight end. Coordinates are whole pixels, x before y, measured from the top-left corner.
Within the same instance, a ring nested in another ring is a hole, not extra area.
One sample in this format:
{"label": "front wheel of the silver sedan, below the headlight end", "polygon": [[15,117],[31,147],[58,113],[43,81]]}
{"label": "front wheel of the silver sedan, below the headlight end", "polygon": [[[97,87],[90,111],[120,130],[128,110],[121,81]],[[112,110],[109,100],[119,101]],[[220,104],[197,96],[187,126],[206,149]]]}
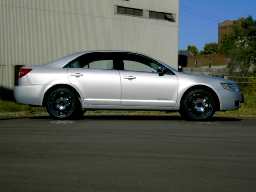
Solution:
{"label": "front wheel of the silver sedan, below the headlight end", "polygon": [[212,94],[204,89],[188,92],[182,100],[180,114],[188,120],[206,120],[215,112]]}

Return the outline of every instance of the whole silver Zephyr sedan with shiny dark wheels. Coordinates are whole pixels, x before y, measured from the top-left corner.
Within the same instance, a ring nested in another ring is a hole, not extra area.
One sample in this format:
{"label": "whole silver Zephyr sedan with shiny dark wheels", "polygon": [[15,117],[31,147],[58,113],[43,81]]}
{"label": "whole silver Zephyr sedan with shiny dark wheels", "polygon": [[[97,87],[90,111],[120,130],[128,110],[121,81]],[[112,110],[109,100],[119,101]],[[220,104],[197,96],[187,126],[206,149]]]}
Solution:
{"label": "whole silver Zephyr sedan with shiny dark wheels", "polygon": [[51,63],[24,66],[14,88],[18,103],[45,106],[53,118],[86,110],[179,111],[203,120],[236,110],[244,101],[233,81],[179,72],[138,52],[78,52]]}

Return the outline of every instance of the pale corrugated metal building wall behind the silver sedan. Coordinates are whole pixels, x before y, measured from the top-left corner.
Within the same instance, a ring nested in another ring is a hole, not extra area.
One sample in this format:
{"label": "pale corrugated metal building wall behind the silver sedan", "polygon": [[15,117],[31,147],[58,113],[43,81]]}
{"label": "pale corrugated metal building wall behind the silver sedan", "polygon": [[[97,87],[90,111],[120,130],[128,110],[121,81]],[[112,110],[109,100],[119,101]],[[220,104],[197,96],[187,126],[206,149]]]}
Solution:
{"label": "pale corrugated metal building wall behind the silver sedan", "polygon": [[[143,52],[177,68],[179,0],[0,3],[0,85],[6,90],[13,89],[15,65],[40,65],[85,50]],[[176,22],[114,14],[114,5],[174,13]]]}

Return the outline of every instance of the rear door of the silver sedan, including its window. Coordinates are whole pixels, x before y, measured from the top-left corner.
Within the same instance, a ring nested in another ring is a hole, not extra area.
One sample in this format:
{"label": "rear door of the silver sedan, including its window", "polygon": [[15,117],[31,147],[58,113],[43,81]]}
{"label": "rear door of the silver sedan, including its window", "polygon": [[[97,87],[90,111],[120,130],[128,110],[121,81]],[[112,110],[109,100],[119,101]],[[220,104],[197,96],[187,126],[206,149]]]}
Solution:
{"label": "rear door of the silver sedan, including its window", "polygon": [[112,70],[111,65],[111,53],[87,53],[70,64],[69,81],[80,90],[85,104],[121,104],[119,71]]}

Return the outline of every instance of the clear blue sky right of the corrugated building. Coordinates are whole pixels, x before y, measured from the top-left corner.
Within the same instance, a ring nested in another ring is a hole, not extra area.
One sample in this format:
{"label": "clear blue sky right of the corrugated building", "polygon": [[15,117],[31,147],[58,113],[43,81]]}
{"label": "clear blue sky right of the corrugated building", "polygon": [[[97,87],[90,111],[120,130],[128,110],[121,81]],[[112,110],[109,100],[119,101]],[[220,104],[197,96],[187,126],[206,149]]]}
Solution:
{"label": "clear blue sky right of the corrugated building", "polygon": [[205,43],[217,43],[218,23],[246,18],[248,15],[256,20],[256,0],[180,0],[179,50],[195,45],[200,51]]}

